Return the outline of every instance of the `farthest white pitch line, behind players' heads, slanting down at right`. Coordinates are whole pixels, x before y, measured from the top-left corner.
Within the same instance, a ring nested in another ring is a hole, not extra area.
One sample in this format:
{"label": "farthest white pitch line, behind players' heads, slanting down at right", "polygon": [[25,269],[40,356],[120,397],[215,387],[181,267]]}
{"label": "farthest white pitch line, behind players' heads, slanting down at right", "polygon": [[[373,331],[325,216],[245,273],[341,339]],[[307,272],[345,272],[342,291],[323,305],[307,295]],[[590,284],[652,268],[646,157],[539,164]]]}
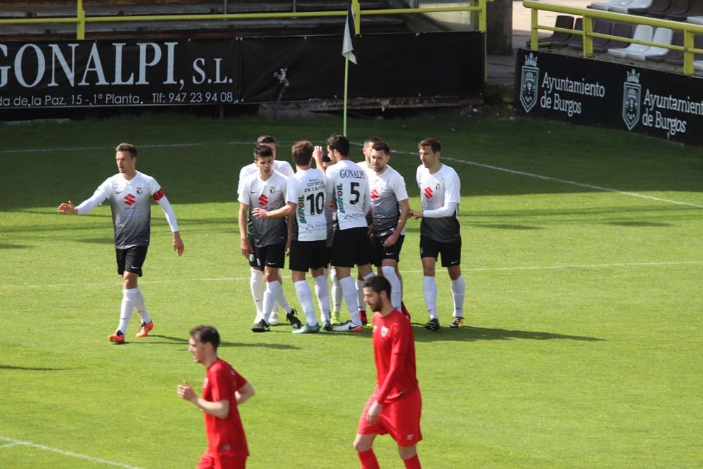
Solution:
{"label": "farthest white pitch line, behind players' heads, slanting down at right", "polygon": [[[280,145],[288,145],[289,143],[292,142],[278,142]],[[358,142],[352,142],[356,146],[362,146],[363,143],[358,143]],[[245,142],[245,141],[231,141],[231,142],[224,142],[224,143],[156,143],[153,145],[141,145],[140,148],[174,148],[174,147],[191,147],[191,146],[206,146],[206,145],[253,145],[253,142]],[[3,153],[34,153],[34,152],[51,152],[51,151],[75,151],[75,150],[105,150],[105,147],[77,147],[77,148],[39,148],[39,149],[16,149],[16,150],[0,150],[0,154]],[[417,152],[410,152],[410,151],[394,151],[393,153],[399,153],[401,155],[417,155]],[[584,187],[588,189],[594,189],[595,191],[603,191],[603,192],[612,192],[612,193],[617,193],[621,195],[629,195],[631,197],[638,197],[638,198],[644,198],[648,200],[656,200],[657,202],[666,202],[666,203],[673,203],[676,205],[687,205],[688,207],[697,207],[697,208],[703,208],[703,205],[699,204],[694,204],[694,203],[688,203],[688,202],[681,202],[680,200],[671,200],[671,199],[665,199],[665,198],[659,198],[659,197],[654,197],[652,195],[645,195],[645,194],[640,194],[636,192],[628,192],[628,191],[620,191],[619,189],[614,189],[610,187],[602,187],[602,186],[593,186],[593,184],[584,184],[581,182],[576,182],[576,181],[569,181],[567,179],[559,179],[555,177],[550,177],[550,176],[543,176],[541,174],[534,174],[534,173],[529,173],[529,172],[524,172],[524,171],[517,171],[515,169],[508,169],[508,168],[503,168],[500,166],[494,166],[494,165],[486,165],[484,163],[479,163],[475,161],[469,161],[469,160],[460,160],[459,158],[449,158],[446,156],[443,156],[444,160],[446,161],[453,161],[453,162],[458,162],[458,163],[463,163],[464,165],[472,165],[472,166],[477,166],[477,167],[482,167],[486,169],[493,169],[494,171],[501,171],[501,172],[507,172],[510,174],[517,174],[519,176],[527,176],[527,177],[534,177],[536,179],[543,179],[546,181],[554,181],[558,182],[561,184],[569,184],[571,186],[579,186],[579,187]]]}

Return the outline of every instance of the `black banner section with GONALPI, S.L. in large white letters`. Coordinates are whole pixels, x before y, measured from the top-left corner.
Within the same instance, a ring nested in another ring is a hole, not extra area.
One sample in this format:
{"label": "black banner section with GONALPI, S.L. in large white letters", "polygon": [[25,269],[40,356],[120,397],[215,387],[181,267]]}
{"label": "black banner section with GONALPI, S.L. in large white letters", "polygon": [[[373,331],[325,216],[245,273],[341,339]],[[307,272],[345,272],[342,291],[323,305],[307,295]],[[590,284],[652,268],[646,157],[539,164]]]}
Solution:
{"label": "black banner section with GONALPI, S.L. in large white letters", "polygon": [[235,103],[236,41],[0,44],[0,108]]}

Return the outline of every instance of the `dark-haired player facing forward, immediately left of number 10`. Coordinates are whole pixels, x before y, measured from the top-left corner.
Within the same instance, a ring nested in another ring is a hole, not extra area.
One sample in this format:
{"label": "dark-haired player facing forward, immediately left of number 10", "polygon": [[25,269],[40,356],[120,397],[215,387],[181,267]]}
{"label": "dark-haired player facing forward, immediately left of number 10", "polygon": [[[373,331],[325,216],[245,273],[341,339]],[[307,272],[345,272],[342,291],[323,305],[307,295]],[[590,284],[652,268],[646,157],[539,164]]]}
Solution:
{"label": "dark-haired player facing forward, immediately left of number 10", "polygon": [[[253,332],[269,330],[271,311],[278,304],[288,304],[283,295],[283,286],[278,281],[278,270],[285,265],[285,250],[290,238],[290,224],[283,218],[260,219],[252,216],[256,207],[276,210],[285,205],[287,179],[273,171],[273,153],[266,145],[254,149],[259,173],[252,174],[242,182],[239,192],[239,234],[242,255],[262,271],[266,291],[262,300],[262,319],[252,328]],[[251,233],[247,233],[251,225]],[[252,260],[253,255],[253,260]],[[300,327],[295,309],[288,307],[286,318],[293,328]]]}

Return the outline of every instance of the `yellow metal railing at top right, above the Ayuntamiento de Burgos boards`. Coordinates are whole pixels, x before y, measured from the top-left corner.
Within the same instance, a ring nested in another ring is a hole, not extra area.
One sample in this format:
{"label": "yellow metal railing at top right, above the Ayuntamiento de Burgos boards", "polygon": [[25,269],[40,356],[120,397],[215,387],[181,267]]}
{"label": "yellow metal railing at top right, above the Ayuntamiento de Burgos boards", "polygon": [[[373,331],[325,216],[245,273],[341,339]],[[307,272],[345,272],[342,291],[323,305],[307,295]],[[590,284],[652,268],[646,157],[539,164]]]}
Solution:
{"label": "yellow metal railing at top right, above the Ayuntamiento de Burgos boards", "polygon": [[[703,49],[696,49],[693,37],[695,34],[703,34],[703,25],[683,23],[681,21],[659,20],[646,16],[627,15],[625,13],[612,13],[610,11],[595,10],[591,8],[577,8],[573,6],[562,6],[557,4],[546,4],[542,1],[525,0],[522,2],[525,8],[531,8],[530,24],[530,49],[539,49],[539,30],[567,32],[571,34],[581,34],[583,37],[583,56],[593,57],[593,38],[614,39],[617,41],[643,44],[645,46],[664,47],[673,51],[683,51],[683,72],[686,75],[693,74],[693,58],[695,53],[703,53]],[[553,11],[555,13],[565,13],[583,17],[583,30],[569,30],[562,27],[540,25],[538,22],[539,11]],[[593,31],[593,20],[610,20],[619,23],[632,23],[634,25],[649,25],[652,27],[668,27],[670,30],[683,32],[683,46],[673,44],[659,44],[650,41],[639,41],[630,37],[613,36],[612,34],[602,34]]]}

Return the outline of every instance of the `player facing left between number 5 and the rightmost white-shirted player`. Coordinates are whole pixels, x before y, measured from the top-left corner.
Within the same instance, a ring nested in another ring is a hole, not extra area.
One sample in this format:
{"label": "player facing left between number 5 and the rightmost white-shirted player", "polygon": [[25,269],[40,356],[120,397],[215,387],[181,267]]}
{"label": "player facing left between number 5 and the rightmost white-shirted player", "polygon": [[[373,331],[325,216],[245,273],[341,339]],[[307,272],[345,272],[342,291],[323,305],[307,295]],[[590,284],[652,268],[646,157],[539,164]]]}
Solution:
{"label": "player facing left between number 5 and the rightmost white-shirted player", "polygon": [[391,303],[401,310],[402,286],[396,275],[405,240],[405,224],[410,214],[405,179],[388,165],[387,143],[373,143],[368,155],[373,174],[368,185],[371,198],[371,262],[391,284]]}

